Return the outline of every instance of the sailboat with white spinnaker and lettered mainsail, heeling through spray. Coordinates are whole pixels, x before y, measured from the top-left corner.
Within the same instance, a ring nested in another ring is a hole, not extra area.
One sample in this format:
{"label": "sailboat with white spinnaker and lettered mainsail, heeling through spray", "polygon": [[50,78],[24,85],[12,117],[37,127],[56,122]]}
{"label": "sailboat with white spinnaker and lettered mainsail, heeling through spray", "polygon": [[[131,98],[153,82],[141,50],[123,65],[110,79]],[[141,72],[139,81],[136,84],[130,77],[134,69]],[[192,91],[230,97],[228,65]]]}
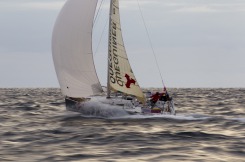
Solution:
{"label": "sailboat with white spinnaker and lettered mainsail, heeling through spray", "polygon": [[[102,109],[108,110],[109,107],[112,114],[118,111],[151,113],[149,101],[136,80],[124,46],[119,0],[110,2],[106,92],[99,82],[92,51],[97,3],[98,0],[68,0],[53,29],[53,61],[61,91],[66,96],[66,108],[84,115],[101,113]],[[161,104],[156,104],[156,107],[161,107]],[[168,113],[175,114],[173,104],[170,105]]]}

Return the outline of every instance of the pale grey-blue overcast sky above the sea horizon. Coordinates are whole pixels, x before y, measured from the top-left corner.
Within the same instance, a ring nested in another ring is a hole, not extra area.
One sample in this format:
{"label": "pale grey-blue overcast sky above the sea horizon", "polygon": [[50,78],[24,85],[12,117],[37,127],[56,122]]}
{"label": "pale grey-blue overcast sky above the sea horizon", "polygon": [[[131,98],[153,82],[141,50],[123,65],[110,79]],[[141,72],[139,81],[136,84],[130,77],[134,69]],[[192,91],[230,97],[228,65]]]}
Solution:
{"label": "pale grey-blue overcast sky above the sea horizon", "polygon": [[[0,1],[0,87],[59,87],[51,36],[64,2]],[[93,42],[103,85],[108,2],[104,0],[96,20]],[[139,2],[168,87],[245,87],[245,0]],[[161,87],[137,0],[120,4],[124,42],[137,80],[142,87]]]}

